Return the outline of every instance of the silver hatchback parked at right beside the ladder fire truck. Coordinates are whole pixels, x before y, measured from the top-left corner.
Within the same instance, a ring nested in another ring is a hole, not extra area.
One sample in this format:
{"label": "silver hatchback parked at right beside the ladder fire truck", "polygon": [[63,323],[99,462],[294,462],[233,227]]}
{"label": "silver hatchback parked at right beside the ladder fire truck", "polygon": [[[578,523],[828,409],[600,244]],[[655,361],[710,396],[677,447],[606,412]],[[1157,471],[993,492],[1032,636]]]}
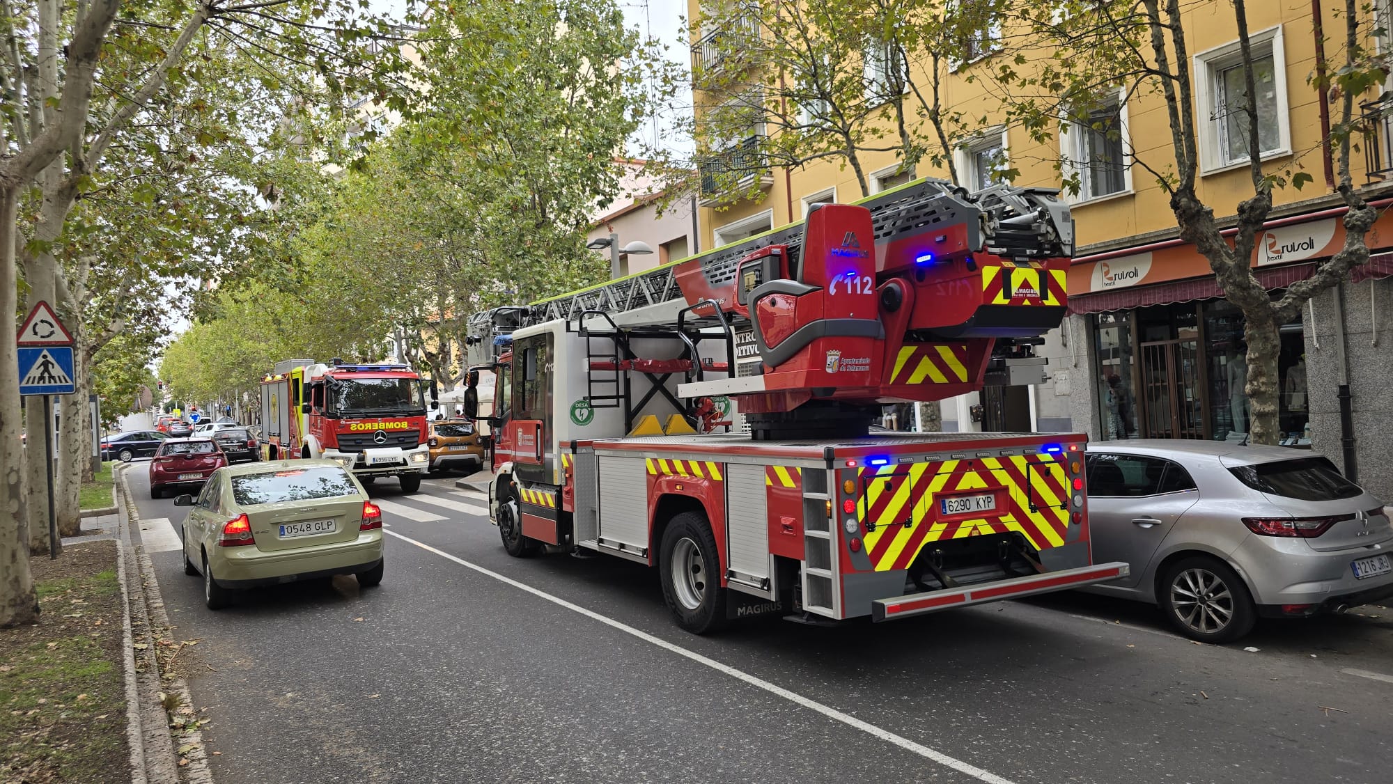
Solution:
{"label": "silver hatchback parked at right beside the ladder fire truck", "polygon": [[1089,444],[1087,460],[1094,561],[1133,567],[1087,590],[1159,604],[1192,639],[1393,596],[1383,503],[1319,454],[1158,439]]}

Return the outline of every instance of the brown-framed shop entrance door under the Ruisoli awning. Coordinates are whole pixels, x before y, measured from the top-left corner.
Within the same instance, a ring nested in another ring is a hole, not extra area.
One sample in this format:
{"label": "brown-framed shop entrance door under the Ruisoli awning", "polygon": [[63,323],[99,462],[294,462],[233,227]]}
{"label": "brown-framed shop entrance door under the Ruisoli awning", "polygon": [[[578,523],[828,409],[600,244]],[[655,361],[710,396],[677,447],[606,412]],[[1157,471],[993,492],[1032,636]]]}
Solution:
{"label": "brown-framed shop entrance door under the Ruisoli awning", "polygon": [[1204,439],[1199,400],[1199,341],[1141,344],[1144,439]]}

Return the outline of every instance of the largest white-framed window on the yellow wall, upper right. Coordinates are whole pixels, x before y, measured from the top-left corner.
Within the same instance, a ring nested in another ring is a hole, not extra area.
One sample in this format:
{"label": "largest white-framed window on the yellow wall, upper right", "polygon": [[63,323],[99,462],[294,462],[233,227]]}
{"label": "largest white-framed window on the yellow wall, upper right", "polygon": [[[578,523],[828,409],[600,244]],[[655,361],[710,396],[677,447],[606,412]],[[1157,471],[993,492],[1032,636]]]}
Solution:
{"label": "largest white-framed window on the yellow wall, upper right", "polygon": [[[1282,28],[1255,32],[1250,40],[1258,110],[1258,153],[1263,159],[1286,155],[1291,149],[1291,128]],[[1237,40],[1195,56],[1201,159],[1205,171],[1248,162],[1248,89],[1244,71]]]}

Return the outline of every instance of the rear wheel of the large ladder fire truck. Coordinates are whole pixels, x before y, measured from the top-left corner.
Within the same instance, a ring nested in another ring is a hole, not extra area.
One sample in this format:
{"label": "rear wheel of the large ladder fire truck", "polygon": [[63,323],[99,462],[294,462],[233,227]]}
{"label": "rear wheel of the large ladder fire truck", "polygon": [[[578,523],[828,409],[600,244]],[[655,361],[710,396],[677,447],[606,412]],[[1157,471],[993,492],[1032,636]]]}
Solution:
{"label": "rear wheel of the large ladder fire truck", "polygon": [[719,564],[716,538],[706,515],[685,511],[667,524],[657,563],[663,599],[677,625],[692,634],[726,625],[726,589],[720,586]]}

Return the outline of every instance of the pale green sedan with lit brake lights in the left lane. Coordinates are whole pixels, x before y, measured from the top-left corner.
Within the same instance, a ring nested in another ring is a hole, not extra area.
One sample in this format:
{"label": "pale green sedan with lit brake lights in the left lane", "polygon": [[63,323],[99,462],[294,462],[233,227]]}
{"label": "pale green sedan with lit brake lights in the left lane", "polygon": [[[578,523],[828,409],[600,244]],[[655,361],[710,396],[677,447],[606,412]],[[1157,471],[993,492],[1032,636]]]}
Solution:
{"label": "pale green sedan with lit brake lights in the left lane", "polygon": [[219,468],[203,490],[180,496],[184,572],[203,575],[210,610],[238,589],[358,575],[382,582],[382,510],[330,460],[252,462]]}

